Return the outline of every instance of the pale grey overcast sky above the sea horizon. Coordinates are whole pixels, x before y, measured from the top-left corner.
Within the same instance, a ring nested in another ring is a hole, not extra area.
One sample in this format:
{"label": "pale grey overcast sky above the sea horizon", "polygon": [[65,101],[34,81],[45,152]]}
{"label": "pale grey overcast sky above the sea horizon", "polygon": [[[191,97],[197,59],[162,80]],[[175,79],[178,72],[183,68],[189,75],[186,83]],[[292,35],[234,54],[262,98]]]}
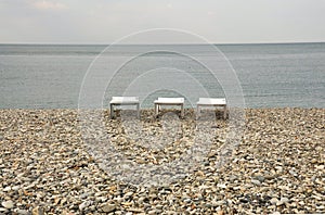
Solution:
{"label": "pale grey overcast sky above the sea horizon", "polygon": [[0,43],[112,43],[152,28],[213,43],[318,42],[325,0],[0,0]]}

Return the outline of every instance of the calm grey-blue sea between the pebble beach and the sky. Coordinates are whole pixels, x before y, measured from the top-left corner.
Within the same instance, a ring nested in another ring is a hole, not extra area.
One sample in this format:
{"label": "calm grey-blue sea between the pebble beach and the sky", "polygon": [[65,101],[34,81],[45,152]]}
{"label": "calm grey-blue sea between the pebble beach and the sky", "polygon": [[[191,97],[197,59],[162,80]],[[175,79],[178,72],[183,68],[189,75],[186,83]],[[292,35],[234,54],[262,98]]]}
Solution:
{"label": "calm grey-blue sea between the pebble beach and the sky", "polygon": [[95,108],[112,96],[151,108],[161,96],[206,97],[200,89],[236,89],[252,109],[325,108],[325,42],[206,46],[0,45],[0,109],[78,109],[82,93],[102,100]]}

